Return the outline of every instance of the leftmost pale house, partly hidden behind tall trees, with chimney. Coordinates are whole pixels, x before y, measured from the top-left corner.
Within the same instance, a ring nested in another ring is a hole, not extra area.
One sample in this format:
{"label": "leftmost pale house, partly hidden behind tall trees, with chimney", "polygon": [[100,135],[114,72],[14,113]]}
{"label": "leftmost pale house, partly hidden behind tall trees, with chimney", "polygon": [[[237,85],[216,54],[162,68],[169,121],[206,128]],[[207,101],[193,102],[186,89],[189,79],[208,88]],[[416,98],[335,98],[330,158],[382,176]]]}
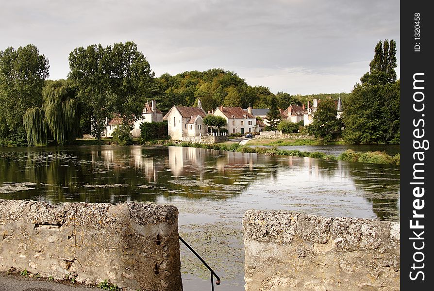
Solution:
{"label": "leftmost pale house, partly hidden behind tall trees, with chimney", "polygon": [[[140,136],[140,125],[143,122],[162,122],[163,121],[163,113],[157,109],[157,105],[155,100],[151,101],[151,104],[149,102],[145,103],[145,108],[142,112],[142,118],[136,120],[134,123],[131,124],[133,129],[131,129],[131,134],[133,137]],[[106,118],[106,130],[104,131],[105,137],[112,137],[113,131],[118,128],[122,124],[123,120],[122,118],[116,116],[109,120]]]}

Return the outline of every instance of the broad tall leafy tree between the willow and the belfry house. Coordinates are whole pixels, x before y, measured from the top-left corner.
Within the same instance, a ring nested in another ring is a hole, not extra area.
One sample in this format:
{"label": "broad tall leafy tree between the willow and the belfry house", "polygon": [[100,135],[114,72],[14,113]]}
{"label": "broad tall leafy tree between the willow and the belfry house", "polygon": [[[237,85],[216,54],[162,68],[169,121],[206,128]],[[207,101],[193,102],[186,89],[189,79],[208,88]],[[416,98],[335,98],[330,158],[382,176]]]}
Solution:
{"label": "broad tall leafy tree between the willow and the belfry house", "polygon": [[69,67],[69,78],[92,112],[92,134],[97,139],[107,116],[116,113],[127,126],[140,118],[146,99],[152,97],[154,73],[133,42],[74,49],[69,54]]}

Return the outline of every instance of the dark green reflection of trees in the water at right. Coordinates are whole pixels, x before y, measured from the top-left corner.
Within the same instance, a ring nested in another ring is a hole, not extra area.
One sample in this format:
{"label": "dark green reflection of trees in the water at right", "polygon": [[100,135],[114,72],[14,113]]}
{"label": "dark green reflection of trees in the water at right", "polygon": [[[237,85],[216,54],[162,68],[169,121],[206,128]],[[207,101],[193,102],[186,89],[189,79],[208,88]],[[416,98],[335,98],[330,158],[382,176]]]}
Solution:
{"label": "dark green reflection of trees in the water at right", "polygon": [[399,217],[400,171],[393,165],[338,161],[341,172],[354,181],[356,189],[372,203],[372,210],[381,220]]}

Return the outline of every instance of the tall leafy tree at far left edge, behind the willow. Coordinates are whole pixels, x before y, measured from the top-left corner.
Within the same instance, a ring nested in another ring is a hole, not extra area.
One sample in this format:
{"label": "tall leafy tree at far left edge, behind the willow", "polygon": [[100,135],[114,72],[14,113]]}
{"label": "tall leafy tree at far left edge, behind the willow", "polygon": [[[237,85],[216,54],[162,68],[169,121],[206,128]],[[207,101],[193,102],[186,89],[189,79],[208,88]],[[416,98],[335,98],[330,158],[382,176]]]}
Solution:
{"label": "tall leafy tree at far left edge, behind the willow", "polygon": [[[34,45],[0,51],[0,140],[26,145],[23,115],[42,105],[48,59]],[[17,134],[18,133],[18,134]]]}

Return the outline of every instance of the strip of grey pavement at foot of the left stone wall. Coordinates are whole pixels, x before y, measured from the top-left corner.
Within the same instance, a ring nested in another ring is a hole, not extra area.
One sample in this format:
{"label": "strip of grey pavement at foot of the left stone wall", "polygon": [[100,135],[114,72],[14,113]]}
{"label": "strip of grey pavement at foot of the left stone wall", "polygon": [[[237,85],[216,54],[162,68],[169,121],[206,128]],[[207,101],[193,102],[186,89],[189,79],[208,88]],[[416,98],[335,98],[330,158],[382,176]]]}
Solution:
{"label": "strip of grey pavement at foot of the left stone wall", "polygon": [[67,285],[44,279],[0,274],[0,291],[101,291],[101,289],[88,288],[82,284]]}

